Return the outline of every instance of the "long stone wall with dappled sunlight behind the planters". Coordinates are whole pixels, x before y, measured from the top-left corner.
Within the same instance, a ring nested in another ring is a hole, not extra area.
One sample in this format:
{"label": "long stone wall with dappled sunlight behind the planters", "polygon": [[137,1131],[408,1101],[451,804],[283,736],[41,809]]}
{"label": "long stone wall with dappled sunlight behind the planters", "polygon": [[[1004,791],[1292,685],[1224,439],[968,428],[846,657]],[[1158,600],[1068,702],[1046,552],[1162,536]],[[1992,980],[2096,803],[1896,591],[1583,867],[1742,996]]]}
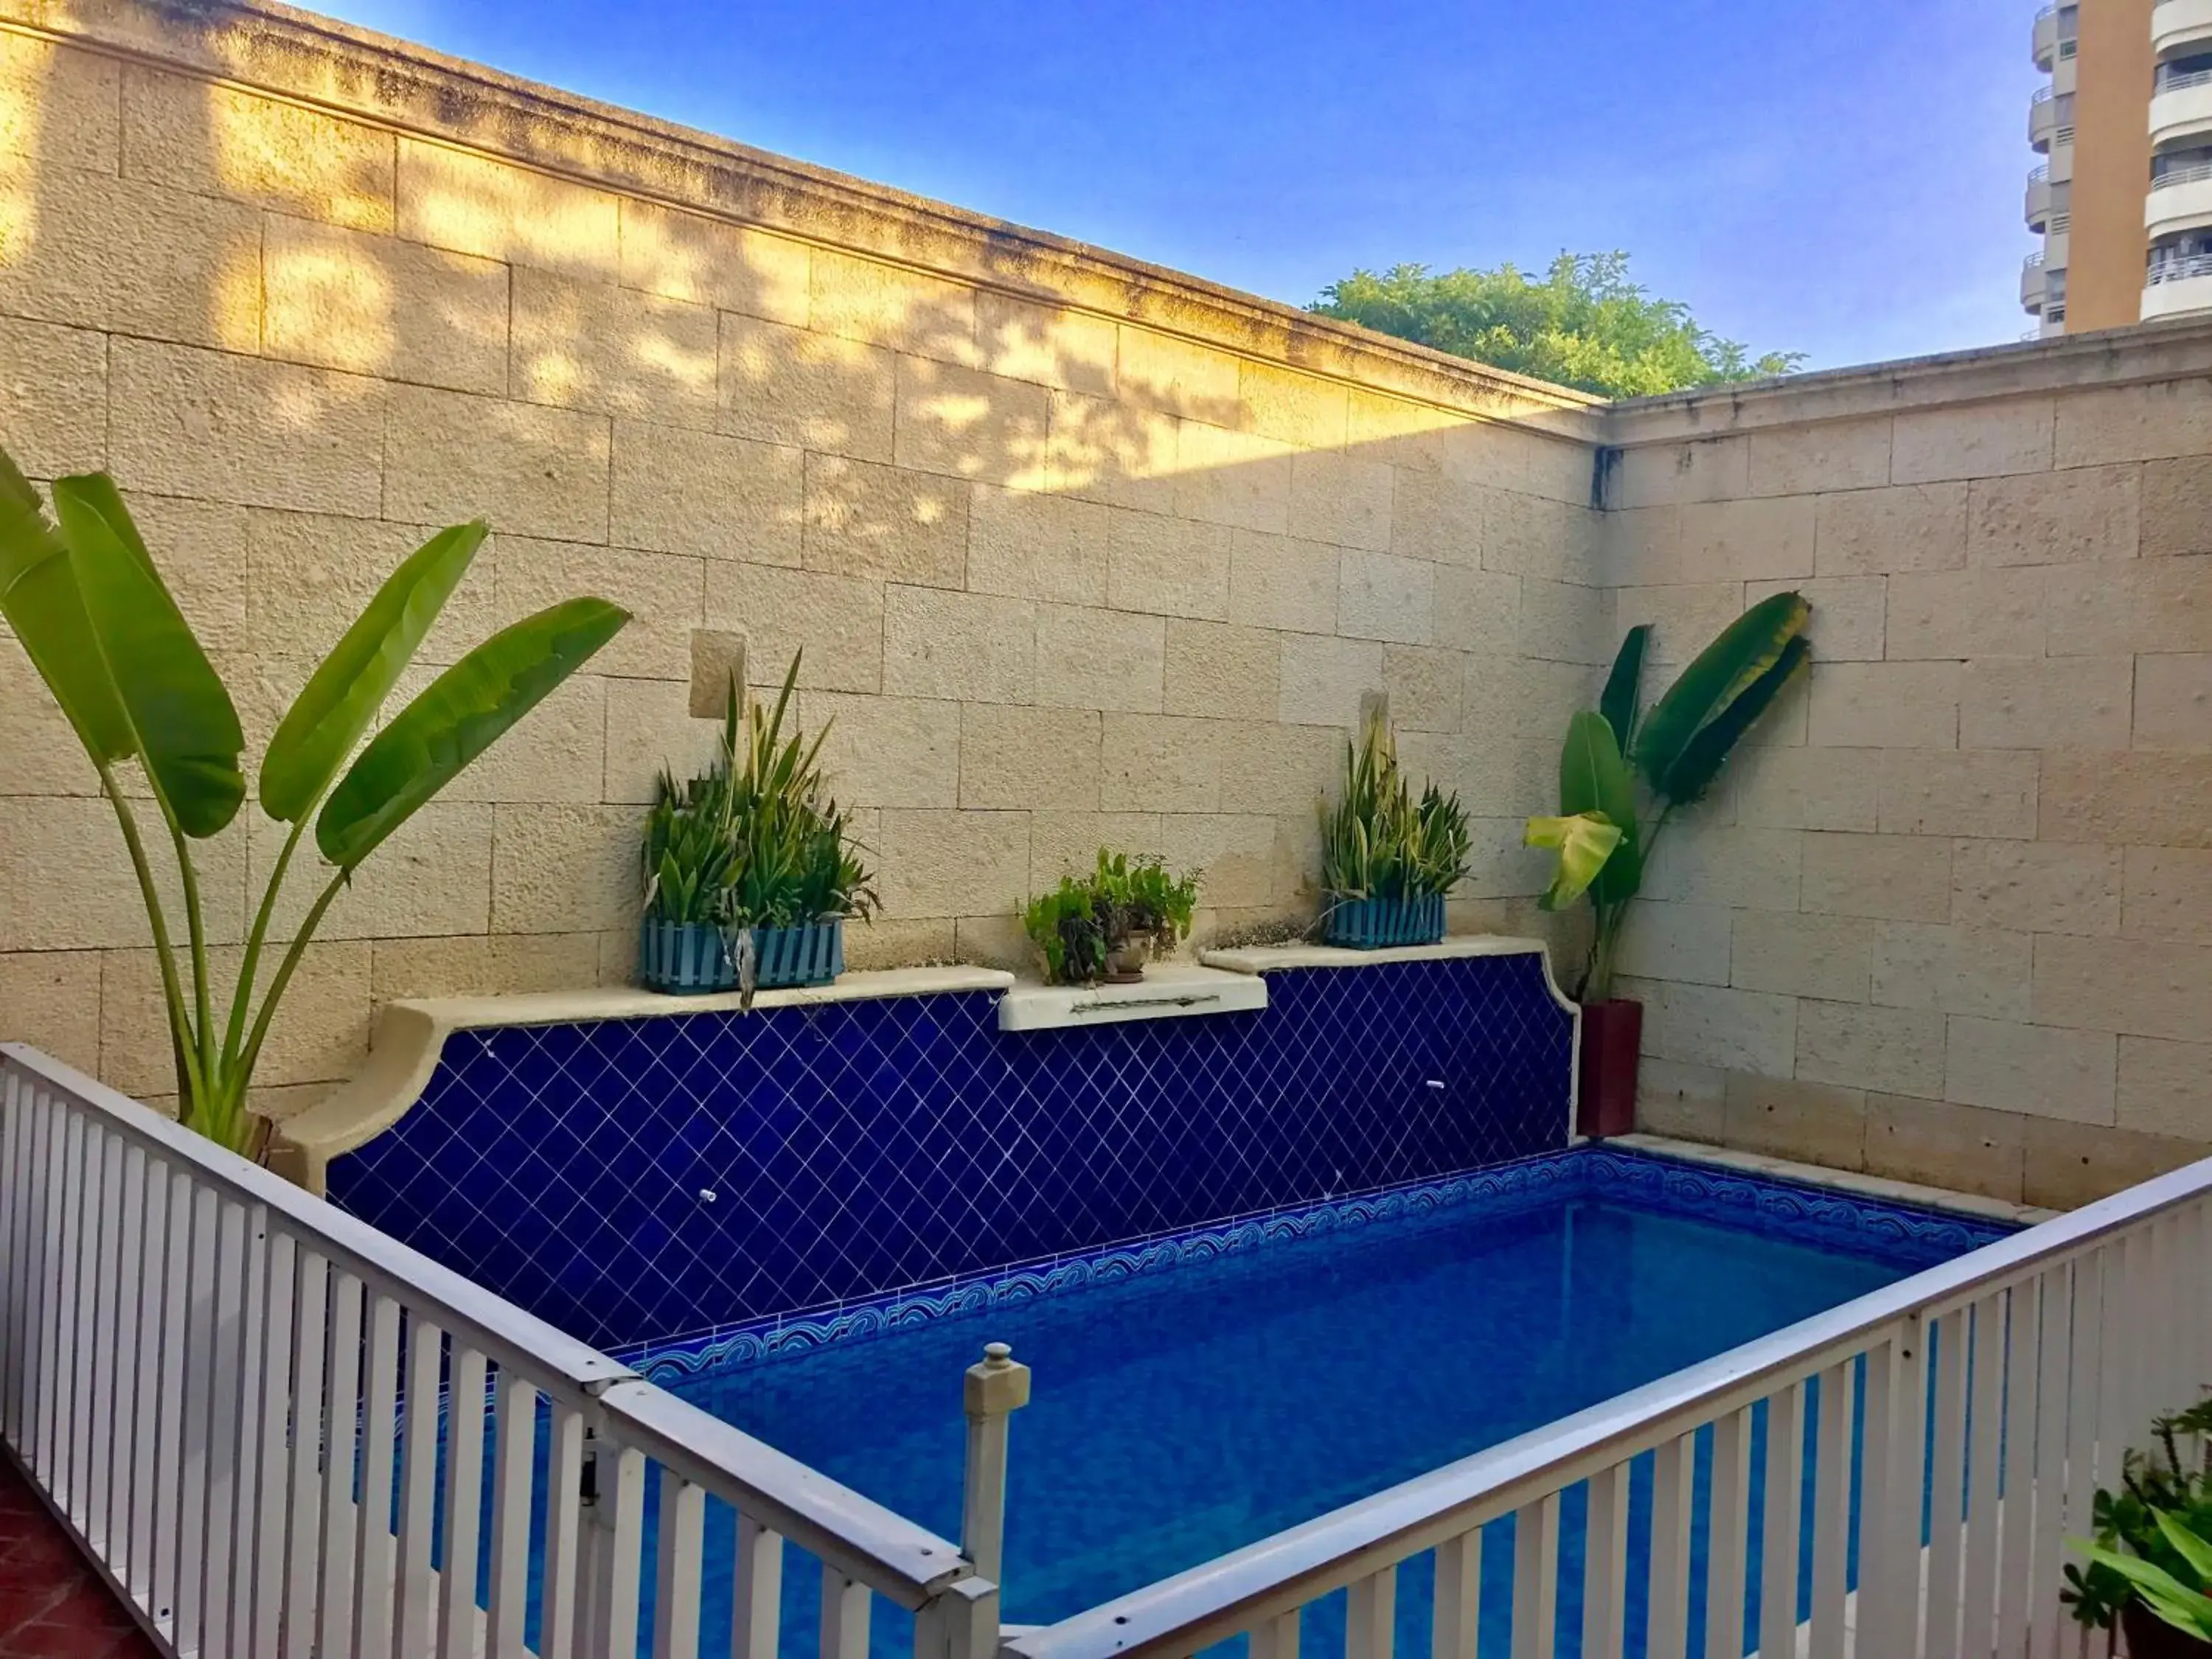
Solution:
{"label": "long stone wall with dappled sunlight behind the planters", "polygon": [[[628,975],[641,803],[732,641],[757,684],[805,646],[799,714],[836,717],[883,872],[856,964],[1020,956],[1015,905],[1102,841],[1199,867],[1208,931],[1307,911],[1367,692],[1478,814],[1455,922],[1533,927],[1520,816],[1610,635],[1597,436],[1575,394],[299,13],[0,0],[0,442],[115,473],[250,754],[434,526],[495,540],[414,684],[571,593],[637,613],[332,909],[274,1110],[380,1000]],[[219,967],[279,841],[248,805],[199,849]],[[144,940],[0,637],[0,1035],[164,1095]]]}

